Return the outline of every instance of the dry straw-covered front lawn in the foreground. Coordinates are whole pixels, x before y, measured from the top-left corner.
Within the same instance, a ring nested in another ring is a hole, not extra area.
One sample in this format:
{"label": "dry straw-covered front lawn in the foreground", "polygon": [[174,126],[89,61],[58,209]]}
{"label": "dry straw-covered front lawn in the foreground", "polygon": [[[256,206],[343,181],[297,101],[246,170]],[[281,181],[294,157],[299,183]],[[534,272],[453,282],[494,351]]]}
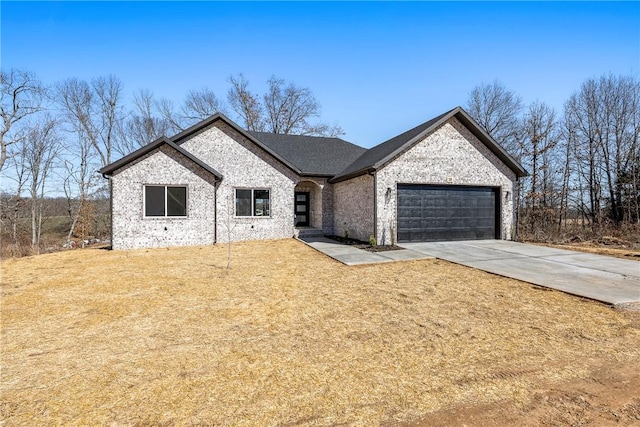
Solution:
{"label": "dry straw-covered front lawn in the foreground", "polygon": [[[603,305],[294,240],[2,262],[5,425],[377,425],[640,358]],[[634,345],[635,344],[635,345]]]}

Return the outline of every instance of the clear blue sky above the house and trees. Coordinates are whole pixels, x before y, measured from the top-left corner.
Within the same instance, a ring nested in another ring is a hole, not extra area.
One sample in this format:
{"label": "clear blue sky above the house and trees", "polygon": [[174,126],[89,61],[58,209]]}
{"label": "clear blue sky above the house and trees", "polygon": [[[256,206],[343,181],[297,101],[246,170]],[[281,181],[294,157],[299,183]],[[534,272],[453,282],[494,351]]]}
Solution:
{"label": "clear blue sky above the house and trees", "polygon": [[589,77],[640,72],[638,2],[7,2],[3,68],[45,83],[115,74],[179,103],[244,73],[309,87],[368,147],[494,79],[560,109]]}

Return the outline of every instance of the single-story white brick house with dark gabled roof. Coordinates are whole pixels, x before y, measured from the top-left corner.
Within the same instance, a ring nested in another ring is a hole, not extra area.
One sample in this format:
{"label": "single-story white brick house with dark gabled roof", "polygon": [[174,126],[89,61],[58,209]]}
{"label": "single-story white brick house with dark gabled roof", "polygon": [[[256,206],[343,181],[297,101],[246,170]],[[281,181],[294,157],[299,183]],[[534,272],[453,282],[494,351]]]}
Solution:
{"label": "single-story white brick house with dark gabled roof", "polygon": [[364,149],[249,132],[222,114],[100,170],[114,249],[298,233],[378,244],[511,239],[525,170],[462,108]]}

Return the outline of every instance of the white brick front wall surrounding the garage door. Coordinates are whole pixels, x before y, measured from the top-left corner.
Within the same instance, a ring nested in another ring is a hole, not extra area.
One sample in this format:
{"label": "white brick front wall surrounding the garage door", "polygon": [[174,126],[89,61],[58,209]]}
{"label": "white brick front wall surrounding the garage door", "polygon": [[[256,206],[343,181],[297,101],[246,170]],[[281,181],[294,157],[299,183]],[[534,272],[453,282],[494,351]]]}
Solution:
{"label": "white brick front wall surrounding the garage door", "polygon": [[376,173],[378,243],[397,236],[398,183],[500,187],[501,236],[509,240],[515,181],[515,173],[453,117]]}

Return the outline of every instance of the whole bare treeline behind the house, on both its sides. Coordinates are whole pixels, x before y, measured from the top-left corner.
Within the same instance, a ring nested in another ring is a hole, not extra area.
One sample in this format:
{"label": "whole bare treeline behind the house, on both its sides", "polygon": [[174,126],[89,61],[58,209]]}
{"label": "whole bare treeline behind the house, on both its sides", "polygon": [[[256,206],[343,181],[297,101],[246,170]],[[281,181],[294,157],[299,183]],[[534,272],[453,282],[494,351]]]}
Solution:
{"label": "whole bare treeline behind the house, on both its sides", "polygon": [[[219,97],[189,91],[181,104],[113,75],[45,84],[29,71],[0,72],[0,220],[4,254],[39,252],[47,218],[65,218],[64,243],[109,235],[108,182],[97,170],[163,135],[223,112],[248,130],[337,136],[309,88],[277,77],[262,94],[242,75]],[[467,111],[530,172],[519,183],[521,239],[625,235],[640,227],[640,81],[589,79],[556,111],[525,105],[499,82],[475,87]],[[52,199],[55,198],[55,199]],[[64,205],[52,214],[51,200]],[[62,203],[64,201],[64,203]],[[62,225],[58,226],[59,228]],[[57,237],[60,240],[59,237]]]}

